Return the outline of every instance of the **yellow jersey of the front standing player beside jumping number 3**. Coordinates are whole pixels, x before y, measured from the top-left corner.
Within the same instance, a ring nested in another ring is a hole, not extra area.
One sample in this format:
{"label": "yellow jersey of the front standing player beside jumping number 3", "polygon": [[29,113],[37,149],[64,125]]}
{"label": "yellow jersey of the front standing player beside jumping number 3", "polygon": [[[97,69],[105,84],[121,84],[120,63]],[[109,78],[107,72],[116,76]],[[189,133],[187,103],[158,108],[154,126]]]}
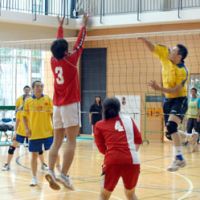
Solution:
{"label": "yellow jersey of the front standing player beside jumping number 3", "polygon": [[25,101],[23,116],[29,123],[30,140],[53,136],[52,113],[53,102],[47,95],[42,95],[39,99],[33,95]]}

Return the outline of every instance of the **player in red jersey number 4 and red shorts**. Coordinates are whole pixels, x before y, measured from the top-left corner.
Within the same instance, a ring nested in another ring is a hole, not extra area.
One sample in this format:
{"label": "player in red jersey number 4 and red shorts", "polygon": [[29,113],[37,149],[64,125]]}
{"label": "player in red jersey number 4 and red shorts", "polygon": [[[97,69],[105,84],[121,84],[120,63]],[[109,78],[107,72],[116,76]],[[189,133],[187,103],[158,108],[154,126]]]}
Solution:
{"label": "player in red jersey number 4 and red shorts", "polygon": [[121,177],[128,200],[137,200],[135,186],[140,173],[138,155],[141,134],[134,121],[120,115],[120,102],[108,98],[103,103],[104,120],[95,125],[94,138],[99,151],[104,154],[104,183],[99,200],[108,200]]}

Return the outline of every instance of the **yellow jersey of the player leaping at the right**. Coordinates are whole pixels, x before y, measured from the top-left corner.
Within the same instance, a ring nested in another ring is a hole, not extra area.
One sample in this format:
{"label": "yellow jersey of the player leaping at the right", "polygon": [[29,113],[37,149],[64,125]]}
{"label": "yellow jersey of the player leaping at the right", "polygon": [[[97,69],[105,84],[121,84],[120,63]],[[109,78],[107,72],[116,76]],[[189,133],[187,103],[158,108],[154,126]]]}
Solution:
{"label": "yellow jersey of the player leaping at the right", "polygon": [[188,69],[184,64],[176,65],[169,60],[169,49],[166,46],[155,45],[154,54],[162,64],[162,82],[164,88],[174,88],[183,84],[181,90],[176,93],[165,93],[166,98],[178,98],[187,96]]}

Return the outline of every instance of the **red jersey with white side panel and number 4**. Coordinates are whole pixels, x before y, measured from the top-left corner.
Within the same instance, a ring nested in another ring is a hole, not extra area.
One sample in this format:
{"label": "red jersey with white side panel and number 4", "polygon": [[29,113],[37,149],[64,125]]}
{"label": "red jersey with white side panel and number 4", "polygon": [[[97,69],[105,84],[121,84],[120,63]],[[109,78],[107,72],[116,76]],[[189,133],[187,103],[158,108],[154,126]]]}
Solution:
{"label": "red jersey with white side panel and number 4", "polygon": [[142,137],[130,117],[97,122],[94,137],[99,151],[105,155],[105,165],[140,164],[136,144],[142,143]]}

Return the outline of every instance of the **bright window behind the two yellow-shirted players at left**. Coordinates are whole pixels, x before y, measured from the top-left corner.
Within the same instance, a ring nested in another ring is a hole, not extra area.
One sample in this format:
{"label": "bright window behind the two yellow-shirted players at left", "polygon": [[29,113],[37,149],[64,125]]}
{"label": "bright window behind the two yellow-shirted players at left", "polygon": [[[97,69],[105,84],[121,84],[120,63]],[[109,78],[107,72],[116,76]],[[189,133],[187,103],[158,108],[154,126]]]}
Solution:
{"label": "bright window behind the two yellow-shirted players at left", "polygon": [[0,105],[14,105],[23,87],[43,74],[41,50],[0,48]]}

